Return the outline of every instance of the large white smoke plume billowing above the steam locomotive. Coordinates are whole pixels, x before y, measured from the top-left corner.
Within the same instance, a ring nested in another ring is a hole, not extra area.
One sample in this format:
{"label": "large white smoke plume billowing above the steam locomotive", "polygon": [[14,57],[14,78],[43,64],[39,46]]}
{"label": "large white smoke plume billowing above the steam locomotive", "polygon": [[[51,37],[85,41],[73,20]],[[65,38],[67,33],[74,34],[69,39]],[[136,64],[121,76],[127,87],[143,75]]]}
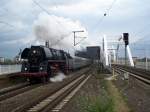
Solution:
{"label": "large white smoke plume billowing above the steam locomotive", "polygon": [[87,37],[86,29],[79,21],[41,13],[34,22],[34,33],[39,41],[49,40],[50,46],[55,48],[70,48],[73,46],[72,31],[84,30],[76,36]]}

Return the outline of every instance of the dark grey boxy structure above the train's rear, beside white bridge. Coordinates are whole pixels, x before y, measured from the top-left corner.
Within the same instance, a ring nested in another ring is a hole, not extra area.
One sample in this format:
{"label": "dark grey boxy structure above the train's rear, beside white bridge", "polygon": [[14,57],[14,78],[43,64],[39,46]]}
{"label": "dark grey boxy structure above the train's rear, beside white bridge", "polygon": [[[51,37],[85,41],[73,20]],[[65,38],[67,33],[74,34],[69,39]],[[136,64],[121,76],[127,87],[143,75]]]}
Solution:
{"label": "dark grey boxy structure above the train's rear, beside white bridge", "polygon": [[100,59],[100,46],[88,46],[87,55],[91,59]]}

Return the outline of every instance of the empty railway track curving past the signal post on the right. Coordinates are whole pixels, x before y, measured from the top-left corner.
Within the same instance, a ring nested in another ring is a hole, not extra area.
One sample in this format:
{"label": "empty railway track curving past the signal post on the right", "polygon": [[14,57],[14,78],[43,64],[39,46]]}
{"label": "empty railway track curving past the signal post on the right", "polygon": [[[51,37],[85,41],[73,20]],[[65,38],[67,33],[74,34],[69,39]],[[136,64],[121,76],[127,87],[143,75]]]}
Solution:
{"label": "empty railway track curving past the signal post on the right", "polygon": [[128,72],[129,75],[150,85],[150,71],[124,65],[112,65],[112,67],[115,68],[116,71]]}

